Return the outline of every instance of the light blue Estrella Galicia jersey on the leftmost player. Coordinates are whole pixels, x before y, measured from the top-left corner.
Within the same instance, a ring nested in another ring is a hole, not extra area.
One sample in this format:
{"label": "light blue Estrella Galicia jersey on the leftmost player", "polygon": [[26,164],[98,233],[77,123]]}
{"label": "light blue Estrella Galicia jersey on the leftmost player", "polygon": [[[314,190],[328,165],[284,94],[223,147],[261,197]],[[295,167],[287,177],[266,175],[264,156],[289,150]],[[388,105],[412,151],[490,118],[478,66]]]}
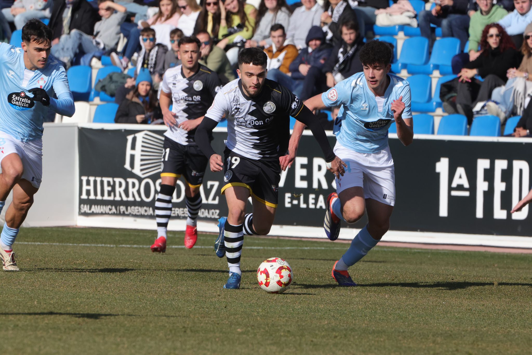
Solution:
{"label": "light blue Estrella Galicia jersey on the leftmost player", "polygon": [[[46,67],[34,71],[24,82],[24,51],[7,43],[0,43],[0,131],[26,142],[43,136],[43,121],[48,109],[73,114],[72,93],[62,65],[49,56]],[[28,90],[43,88],[50,96],[44,106],[32,100]],[[58,100],[52,98],[53,93]]]}

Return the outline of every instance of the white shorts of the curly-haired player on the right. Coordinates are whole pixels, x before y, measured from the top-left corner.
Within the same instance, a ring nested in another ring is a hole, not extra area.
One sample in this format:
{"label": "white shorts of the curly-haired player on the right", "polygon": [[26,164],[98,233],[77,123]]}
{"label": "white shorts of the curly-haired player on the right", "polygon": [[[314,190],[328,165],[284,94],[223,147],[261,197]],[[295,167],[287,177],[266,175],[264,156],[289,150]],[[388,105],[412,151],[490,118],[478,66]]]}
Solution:
{"label": "white shorts of the curly-haired player on the right", "polygon": [[360,186],[364,199],[395,205],[394,160],[390,148],[378,153],[358,153],[336,142],[334,152],[346,164],[344,176],[336,179],[336,192]]}

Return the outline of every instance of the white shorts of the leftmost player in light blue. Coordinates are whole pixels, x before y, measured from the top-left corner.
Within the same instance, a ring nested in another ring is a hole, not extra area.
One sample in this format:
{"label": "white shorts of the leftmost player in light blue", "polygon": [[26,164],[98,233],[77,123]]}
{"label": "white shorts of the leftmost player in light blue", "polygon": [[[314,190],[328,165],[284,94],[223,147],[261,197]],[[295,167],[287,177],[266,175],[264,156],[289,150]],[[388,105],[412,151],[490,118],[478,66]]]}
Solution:
{"label": "white shorts of the leftmost player in light blue", "polygon": [[29,142],[21,142],[0,131],[0,164],[5,156],[11,153],[18,154],[22,160],[22,167],[24,168],[22,178],[39,188],[43,178],[43,140],[34,139]]}

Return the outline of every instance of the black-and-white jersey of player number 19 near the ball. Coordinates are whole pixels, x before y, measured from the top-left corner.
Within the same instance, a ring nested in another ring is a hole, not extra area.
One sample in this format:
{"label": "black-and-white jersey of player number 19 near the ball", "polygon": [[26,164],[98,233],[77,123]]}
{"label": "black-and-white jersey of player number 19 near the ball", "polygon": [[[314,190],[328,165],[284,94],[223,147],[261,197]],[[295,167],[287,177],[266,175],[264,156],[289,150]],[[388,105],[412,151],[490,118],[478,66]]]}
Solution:
{"label": "black-and-white jersey of player number 19 near the ball", "polygon": [[214,98],[205,117],[220,122],[227,118],[226,146],[250,159],[278,159],[286,153],[290,116],[303,103],[286,87],[266,79],[256,97],[248,97],[240,79],[226,84]]}

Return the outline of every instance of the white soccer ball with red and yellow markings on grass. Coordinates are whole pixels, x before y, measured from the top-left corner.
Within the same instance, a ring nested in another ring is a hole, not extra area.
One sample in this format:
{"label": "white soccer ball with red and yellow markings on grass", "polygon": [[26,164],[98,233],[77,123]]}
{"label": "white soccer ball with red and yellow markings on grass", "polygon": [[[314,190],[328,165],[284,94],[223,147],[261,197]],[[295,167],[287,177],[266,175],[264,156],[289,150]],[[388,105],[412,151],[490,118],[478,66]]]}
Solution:
{"label": "white soccer ball with red and yellow markings on grass", "polygon": [[268,293],[285,292],[293,279],[292,268],[286,260],[281,258],[264,260],[257,270],[259,286]]}

